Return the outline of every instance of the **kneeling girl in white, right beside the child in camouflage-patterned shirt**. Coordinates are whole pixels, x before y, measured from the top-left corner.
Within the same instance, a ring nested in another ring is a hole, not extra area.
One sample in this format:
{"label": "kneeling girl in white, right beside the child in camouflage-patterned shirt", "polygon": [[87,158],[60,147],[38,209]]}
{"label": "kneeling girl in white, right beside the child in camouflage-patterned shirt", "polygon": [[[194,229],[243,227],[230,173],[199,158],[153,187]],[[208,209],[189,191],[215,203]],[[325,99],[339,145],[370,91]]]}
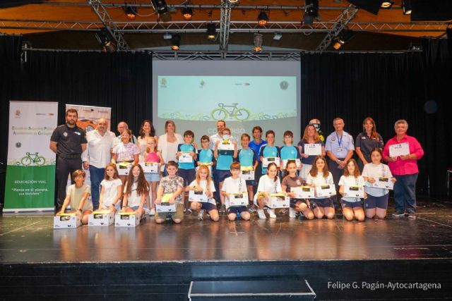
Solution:
{"label": "kneeling girl in white, right beside the child in camouflage-patterned shirt", "polygon": [[202,192],[201,196],[205,195],[207,197],[206,199],[203,199],[203,202],[191,201],[191,210],[198,211],[198,220],[203,220],[203,213],[204,210],[206,210],[208,211],[208,214],[212,221],[218,221],[218,210],[216,207],[215,199],[213,198],[215,185],[213,185],[213,180],[210,177],[210,170],[208,166],[200,165],[198,167],[198,171],[196,172],[196,180],[191,182],[190,185],[185,188],[185,191]]}

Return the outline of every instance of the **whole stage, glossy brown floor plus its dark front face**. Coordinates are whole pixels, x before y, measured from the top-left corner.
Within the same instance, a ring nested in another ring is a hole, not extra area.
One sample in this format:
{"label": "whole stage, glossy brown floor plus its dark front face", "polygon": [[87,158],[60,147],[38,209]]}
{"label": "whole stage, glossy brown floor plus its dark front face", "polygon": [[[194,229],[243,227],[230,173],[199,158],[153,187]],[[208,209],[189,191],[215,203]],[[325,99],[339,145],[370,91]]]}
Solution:
{"label": "whole stage, glossy brown floor plus its dark front face", "polygon": [[350,222],[339,211],[333,220],[253,214],[215,223],[186,213],[179,225],[148,217],[136,228],[63,230],[52,228],[52,214],[4,214],[1,296],[188,300],[190,281],[307,280],[316,300],[444,300],[452,297],[452,203],[417,206],[415,220]]}

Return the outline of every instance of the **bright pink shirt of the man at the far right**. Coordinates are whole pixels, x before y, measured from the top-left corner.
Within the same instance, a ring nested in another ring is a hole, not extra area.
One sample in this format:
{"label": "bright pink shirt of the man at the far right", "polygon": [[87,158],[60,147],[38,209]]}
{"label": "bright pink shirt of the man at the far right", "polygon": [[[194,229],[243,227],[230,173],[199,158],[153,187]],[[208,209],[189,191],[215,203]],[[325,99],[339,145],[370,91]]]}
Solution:
{"label": "bright pink shirt of the man at the far right", "polygon": [[416,154],[417,159],[415,160],[402,160],[400,157],[397,158],[396,161],[388,162],[389,169],[393,175],[404,176],[404,175],[412,175],[413,173],[419,173],[419,169],[417,168],[417,160],[421,159],[424,156],[424,150],[422,149],[420,143],[416,140],[415,137],[411,137],[405,134],[402,140],[397,141],[397,136],[392,137],[383,149],[383,157],[389,156],[389,146],[390,145],[398,145],[399,143],[408,142],[410,146],[410,154]]}

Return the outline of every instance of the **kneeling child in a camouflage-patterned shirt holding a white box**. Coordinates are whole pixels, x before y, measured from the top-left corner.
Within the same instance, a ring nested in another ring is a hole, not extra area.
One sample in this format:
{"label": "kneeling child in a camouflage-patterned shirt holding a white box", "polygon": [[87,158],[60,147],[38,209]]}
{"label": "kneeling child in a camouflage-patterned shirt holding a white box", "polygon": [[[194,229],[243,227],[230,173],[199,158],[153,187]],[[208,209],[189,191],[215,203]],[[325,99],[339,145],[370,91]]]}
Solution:
{"label": "kneeling child in a camouflage-patterned shirt holding a white box", "polygon": [[174,223],[180,223],[184,219],[184,200],[182,193],[184,192],[184,179],[177,176],[177,163],[168,161],[167,163],[168,176],[160,180],[160,185],[157,189],[157,198],[155,204],[160,205],[163,201],[168,201],[169,204],[176,204],[176,211],[158,211],[155,212],[155,223],[163,223],[167,216],[171,216]]}

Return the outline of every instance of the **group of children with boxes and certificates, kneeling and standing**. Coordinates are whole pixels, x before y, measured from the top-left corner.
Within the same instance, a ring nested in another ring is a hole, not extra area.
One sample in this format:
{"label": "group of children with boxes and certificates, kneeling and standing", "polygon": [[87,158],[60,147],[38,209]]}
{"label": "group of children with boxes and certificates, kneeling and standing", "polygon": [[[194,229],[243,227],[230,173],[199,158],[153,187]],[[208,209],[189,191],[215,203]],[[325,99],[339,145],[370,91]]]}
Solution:
{"label": "group of children with boxes and certificates, kneeling and standing", "polygon": [[[250,211],[257,208],[259,219],[266,219],[267,209],[270,219],[276,217],[274,209],[270,209],[270,195],[273,193],[283,194],[290,197],[290,218],[304,216],[306,219],[333,219],[335,207],[333,197],[311,197],[299,199],[291,188],[309,186],[319,188],[323,185],[334,185],[333,176],[328,171],[328,164],[324,154],[310,155],[312,164],[307,171],[307,176],[300,176],[302,171],[301,158],[308,158],[302,152],[301,147],[293,145],[293,134],[290,131],[284,133],[285,145],[281,148],[275,146],[275,133],[273,130],[266,132],[266,145],[260,148],[259,154],[249,147],[250,137],[244,133],[240,143],[242,148],[237,150],[237,142],[230,136],[230,130],[223,128],[222,140],[214,144],[210,149],[210,138],[206,135],[201,137],[201,149],[194,145],[194,133],[187,130],[184,133],[184,144],[177,148],[175,161],[165,164],[165,175],[160,178],[160,173],[144,173],[140,164],[132,164],[126,182],[119,179],[117,166],[108,164],[105,168],[105,179],[101,183],[100,210],[136,212],[139,219],[145,216],[145,207],[160,207],[162,203],[175,204],[175,211],[157,210],[155,222],[164,223],[167,218],[174,223],[180,223],[184,219],[184,208],[198,212],[198,219],[203,219],[206,211],[212,221],[218,221],[220,212],[215,200],[215,183],[218,183],[220,211],[225,211],[230,221],[237,219],[249,220]],[[230,147],[222,147],[230,145]],[[364,166],[362,175],[355,159],[350,159],[344,168],[343,176],[340,178],[339,194],[340,204],[343,208],[343,216],[351,221],[364,221],[376,218],[383,219],[386,216],[388,206],[388,190],[372,187],[373,183],[381,177],[389,178],[395,182],[388,166],[381,163],[381,149],[373,149],[371,152],[371,163]],[[156,141],[148,142],[144,161],[164,163],[162,155],[157,151]],[[244,171],[256,171],[261,164],[261,176],[259,179],[244,180],[241,173]],[[212,172],[213,171],[213,172]],[[76,214],[81,214],[82,223],[88,223],[88,214],[93,212],[93,204],[90,203],[88,195],[90,188],[84,184],[85,173],[78,170],[73,173],[75,184],[71,185],[68,195],[60,213],[64,213],[66,207],[71,203],[71,209]],[[280,180],[282,178],[282,180]],[[258,180],[258,181],[257,181]],[[256,193],[254,187],[257,185]],[[362,199],[359,197],[346,197],[346,187],[364,187],[364,208]],[[152,193],[149,193],[149,191]],[[185,192],[188,194],[194,190],[206,196],[203,202],[191,200],[186,202]],[[151,197],[149,197],[149,195]],[[233,202],[237,197],[244,198],[250,202],[237,204]],[[122,200],[122,202],[121,202]],[[250,211],[249,211],[250,209]]]}

